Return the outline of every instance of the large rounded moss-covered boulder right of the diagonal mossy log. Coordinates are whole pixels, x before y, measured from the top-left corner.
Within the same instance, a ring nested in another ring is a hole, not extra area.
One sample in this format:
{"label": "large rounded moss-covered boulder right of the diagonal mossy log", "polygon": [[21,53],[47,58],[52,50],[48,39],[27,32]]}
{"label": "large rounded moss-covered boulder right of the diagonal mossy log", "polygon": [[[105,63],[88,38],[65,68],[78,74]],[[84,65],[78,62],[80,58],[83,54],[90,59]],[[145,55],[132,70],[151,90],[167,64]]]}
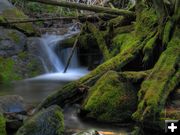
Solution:
{"label": "large rounded moss-covered boulder right of the diagonal mossy log", "polygon": [[90,88],[82,110],[98,121],[121,122],[130,119],[136,100],[133,85],[120,80],[117,72],[109,71]]}

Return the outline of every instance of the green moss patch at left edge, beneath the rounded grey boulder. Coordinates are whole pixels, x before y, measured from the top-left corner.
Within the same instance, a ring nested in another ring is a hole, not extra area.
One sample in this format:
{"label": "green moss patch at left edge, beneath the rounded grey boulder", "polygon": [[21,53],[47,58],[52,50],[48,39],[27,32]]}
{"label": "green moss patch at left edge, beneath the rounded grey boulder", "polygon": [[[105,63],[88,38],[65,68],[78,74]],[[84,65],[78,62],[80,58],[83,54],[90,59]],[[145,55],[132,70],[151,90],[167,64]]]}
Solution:
{"label": "green moss patch at left edge, beneath the rounded grey boulder", "polygon": [[12,80],[19,80],[20,76],[14,69],[14,61],[11,58],[0,57],[0,74],[2,76],[2,82],[8,84]]}

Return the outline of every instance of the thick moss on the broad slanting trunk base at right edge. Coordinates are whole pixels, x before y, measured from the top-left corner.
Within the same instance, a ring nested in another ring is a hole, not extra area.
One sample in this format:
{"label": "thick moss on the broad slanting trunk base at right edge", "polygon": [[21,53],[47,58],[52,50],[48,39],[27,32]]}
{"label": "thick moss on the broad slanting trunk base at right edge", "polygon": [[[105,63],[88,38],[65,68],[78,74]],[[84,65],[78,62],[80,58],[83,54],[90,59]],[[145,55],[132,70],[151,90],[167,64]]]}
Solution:
{"label": "thick moss on the broad slanting trunk base at right edge", "polygon": [[179,29],[161,54],[149,77],[139,91],[139,105],[133,114],[138,121],[158,119],[166,99],[180,81]]}

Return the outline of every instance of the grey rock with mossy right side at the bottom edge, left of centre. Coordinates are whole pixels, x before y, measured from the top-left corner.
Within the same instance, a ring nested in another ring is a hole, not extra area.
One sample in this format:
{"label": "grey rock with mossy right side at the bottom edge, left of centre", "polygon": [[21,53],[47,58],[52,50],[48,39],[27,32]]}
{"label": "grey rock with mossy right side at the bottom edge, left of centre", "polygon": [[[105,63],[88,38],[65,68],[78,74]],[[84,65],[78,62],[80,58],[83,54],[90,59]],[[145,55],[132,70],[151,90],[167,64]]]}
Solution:
{"label": "grey rock with mossy right side at the bottom edge, left of centre", "polygon": [[60,107],[51,106],[35,114],[16,135],[63,135],[64,119]]}

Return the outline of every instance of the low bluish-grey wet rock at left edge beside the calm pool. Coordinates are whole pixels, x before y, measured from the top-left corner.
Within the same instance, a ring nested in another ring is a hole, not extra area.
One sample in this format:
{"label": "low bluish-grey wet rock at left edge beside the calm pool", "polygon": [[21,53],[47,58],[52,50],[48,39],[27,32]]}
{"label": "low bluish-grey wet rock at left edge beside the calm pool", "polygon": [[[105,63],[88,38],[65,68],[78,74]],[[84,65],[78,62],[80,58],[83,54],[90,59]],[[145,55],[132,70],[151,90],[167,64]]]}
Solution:
{"label": "low bluish-grey wet rock at left edge beside the calm pool", "polygon": [[0,96],[0,113],[20,113],[25,110],[25,103],[21,96]]}

